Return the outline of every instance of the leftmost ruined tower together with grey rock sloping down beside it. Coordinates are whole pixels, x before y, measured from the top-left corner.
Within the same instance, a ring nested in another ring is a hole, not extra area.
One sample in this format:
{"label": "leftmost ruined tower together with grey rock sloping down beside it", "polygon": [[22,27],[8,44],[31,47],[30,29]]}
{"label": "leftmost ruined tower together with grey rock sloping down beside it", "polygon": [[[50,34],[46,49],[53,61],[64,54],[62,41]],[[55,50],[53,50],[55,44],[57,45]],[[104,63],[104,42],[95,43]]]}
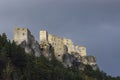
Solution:
{"label": "leftmost ruined tower together with grey rock sloping down beside it", "polygon": [[15,28],[13,40],[17,45],[23,47],[26,53],[33,53],[37,57],[40,56],[39,43],[27,28]]}

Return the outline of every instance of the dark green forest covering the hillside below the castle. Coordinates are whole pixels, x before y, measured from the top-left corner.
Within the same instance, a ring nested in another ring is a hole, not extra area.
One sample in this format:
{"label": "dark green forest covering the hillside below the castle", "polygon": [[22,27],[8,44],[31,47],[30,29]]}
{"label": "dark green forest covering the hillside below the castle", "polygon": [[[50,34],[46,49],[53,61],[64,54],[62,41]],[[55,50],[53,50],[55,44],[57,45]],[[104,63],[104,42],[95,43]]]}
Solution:
{"label": "dark green forest covering the hillside below the castle", "polygon": [[35,57],[10,42],[5,33],[0,35],[0,80],[120,80],[86,65],[84,71],[64,68],[53,55],[51,61],[44,56]]}

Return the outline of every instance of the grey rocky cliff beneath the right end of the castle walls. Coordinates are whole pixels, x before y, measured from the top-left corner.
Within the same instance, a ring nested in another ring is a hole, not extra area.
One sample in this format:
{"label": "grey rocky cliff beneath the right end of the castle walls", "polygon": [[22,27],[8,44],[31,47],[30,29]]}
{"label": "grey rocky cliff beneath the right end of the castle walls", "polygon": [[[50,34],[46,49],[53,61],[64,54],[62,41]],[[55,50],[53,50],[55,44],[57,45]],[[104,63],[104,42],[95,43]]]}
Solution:
{"label": "grey rocky cliff beneath the right end of the castle walls", "polygon": [[90,65],[93,70],[97,70],[96,59],[94,56],[81,57],[78,53],[66,53],[63,56],[63,65],[65,67],[75,67],[79,70],[84,70],[85,65]]}

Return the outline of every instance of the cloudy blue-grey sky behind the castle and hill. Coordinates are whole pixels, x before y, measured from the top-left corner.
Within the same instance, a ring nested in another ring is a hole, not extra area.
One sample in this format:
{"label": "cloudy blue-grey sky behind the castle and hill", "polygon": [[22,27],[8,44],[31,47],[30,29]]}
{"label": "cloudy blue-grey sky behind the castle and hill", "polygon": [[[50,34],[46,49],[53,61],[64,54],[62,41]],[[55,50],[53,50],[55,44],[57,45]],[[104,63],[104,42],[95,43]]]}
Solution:
{"label": "cloudy blue-grey sky behind the castle and hill", "polygon": [[120,0],[0,0],[0,33],[14,27],[39,30],[87,47],[101,70],[120,76]]}

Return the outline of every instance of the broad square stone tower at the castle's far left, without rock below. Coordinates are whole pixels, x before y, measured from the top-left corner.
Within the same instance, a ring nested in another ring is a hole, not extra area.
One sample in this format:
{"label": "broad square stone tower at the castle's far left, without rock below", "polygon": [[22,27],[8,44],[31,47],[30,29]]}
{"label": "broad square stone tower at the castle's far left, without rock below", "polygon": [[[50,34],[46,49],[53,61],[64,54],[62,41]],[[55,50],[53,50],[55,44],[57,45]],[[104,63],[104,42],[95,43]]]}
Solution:
{"label": "broad square stone tower at the castle's far left, without rock below", "polygon": [[14,41],[17,44],[21,44],[23,41],[28,42],[28,35],[30,31],[27,28],[15,28],[14,29]]}

